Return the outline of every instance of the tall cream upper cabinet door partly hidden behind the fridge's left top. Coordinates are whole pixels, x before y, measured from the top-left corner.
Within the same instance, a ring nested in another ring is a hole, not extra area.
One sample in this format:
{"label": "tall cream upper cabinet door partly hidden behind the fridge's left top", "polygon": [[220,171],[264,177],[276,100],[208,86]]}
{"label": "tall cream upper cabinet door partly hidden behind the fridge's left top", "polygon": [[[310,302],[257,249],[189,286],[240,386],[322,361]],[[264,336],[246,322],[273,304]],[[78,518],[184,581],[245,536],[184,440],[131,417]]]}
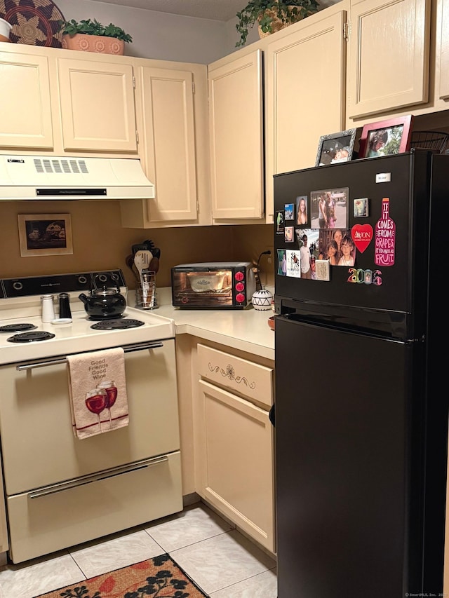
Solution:
{"label": "tall cream upper cabinet door partly hidden behind the fridge's left top", "polygon": [[321,135],[344,130],[347,13],[338,6],[292,25],[294,33],[267,48],[269,215],[273,175],[314,166]]}

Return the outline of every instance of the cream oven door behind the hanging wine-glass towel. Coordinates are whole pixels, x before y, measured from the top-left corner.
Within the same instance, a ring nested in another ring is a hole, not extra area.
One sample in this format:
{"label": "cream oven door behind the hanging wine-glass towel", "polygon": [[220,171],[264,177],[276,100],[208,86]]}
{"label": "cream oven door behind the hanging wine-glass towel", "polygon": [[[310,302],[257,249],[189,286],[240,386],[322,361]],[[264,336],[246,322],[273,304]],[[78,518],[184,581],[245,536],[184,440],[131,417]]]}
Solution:
{"label": "cream oven door behind the hanging wine-glass towel", "polygon": [[129,425],[83,440],[72,432],[64,358],[0,367],[8,496],[180,449],[175,341],[124,349]]}

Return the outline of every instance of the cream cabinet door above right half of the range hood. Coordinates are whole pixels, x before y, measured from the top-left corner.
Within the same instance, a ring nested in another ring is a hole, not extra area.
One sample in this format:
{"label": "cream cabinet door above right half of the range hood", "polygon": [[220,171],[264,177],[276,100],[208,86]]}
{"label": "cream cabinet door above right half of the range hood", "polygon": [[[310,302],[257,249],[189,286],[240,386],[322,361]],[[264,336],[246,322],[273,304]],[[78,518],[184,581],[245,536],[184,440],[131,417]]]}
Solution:
{"label": "cream cabinet door above right half of the range hood", "polygon": [[58,83],[64,151],[137,153],[130,64],[58,58]]}

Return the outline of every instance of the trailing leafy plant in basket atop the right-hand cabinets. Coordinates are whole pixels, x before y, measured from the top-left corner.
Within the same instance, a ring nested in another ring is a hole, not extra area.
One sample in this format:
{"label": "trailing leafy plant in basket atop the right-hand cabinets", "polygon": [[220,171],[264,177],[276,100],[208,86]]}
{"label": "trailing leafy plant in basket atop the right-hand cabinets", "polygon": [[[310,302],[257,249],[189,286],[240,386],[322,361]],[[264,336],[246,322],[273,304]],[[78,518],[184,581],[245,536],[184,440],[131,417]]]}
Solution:
{"label": "trailing leafy plant in basket atop the right-hand cabinets", "polygon": [[236,29],[240,34],[236,47],[245,45],[248,29],[256,22],[260,37],[264,37],[316,13],[318,6],[316,0],[249,0],[236,15],[239,19]]}

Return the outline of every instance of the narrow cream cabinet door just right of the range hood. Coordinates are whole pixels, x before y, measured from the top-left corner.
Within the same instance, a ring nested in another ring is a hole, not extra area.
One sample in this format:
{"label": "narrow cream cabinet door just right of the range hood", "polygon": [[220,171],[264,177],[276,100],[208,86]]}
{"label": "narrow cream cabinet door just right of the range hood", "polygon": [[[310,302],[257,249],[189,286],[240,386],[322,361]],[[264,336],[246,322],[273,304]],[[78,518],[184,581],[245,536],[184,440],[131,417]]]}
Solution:
{"label": "narrow cream cabinet door just right of the range hood", "polygon": [[197,217],[193,74],[142,67],[145,172],[156,186],[152,222]]}

